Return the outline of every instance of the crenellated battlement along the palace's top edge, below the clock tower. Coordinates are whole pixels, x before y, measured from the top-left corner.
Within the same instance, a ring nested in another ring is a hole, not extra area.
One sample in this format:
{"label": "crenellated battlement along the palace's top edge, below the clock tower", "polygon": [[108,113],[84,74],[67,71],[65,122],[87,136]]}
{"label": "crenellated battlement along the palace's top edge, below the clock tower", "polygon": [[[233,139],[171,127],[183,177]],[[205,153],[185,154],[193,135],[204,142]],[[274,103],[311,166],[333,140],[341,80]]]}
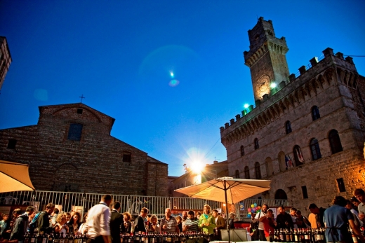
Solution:
{"label": "crenellated battlement along the palace's top edge, below the clock tower", "polygon": [[317,89],[330,84],[338,75],[338,82],[351,88],[357,87],[357,69],[352,57],[344,57],[343,53],[333,53],[333,49],[326,48],[319,57],[313,57],[310,64],[298,69],[297,74],[288,76],[288,82],[282,81],[270,94],[263,95],[262,100],[256,100],[255,106],[248,106],[220,127],[222,141],[235,130],[246,137],[265,124],[270,123],[277,116],[284,114],[289,106],[297,106],[305,101],[305,96],[316,95]]}

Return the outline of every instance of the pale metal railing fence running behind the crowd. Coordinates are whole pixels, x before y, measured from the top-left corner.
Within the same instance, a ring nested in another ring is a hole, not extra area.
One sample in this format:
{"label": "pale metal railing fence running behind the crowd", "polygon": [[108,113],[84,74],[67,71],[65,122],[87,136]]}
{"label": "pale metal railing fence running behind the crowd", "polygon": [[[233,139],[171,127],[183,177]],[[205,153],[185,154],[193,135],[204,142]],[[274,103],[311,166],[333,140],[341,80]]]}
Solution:
{"label": "pale metal railing fence running behind the crowd", "polygon": [[[2,205],[32,205],[37,211],[43,211],[46,204],[52,202],[60,211],[79,211],[84,215],[93,205],[98,204],[102,194],[97,193],[71,193],[52,192],[44,190],[36,191],[15,191],[11,193],[0,193],[0,204]],[[112,195],[114,201],[121,203],[121,212],[130,211],[132,214],[133,203],[140,204],[140,207],[147,207],[150,214],[158,217],[164,216],[167,207],[171,209],[192,209],[202,211],[204,204],[208,204],[212,209],[225,209],[225,204],[214,200],[203,200],[192,197],[155,197],[142,195]],[[247,209],[251,204],[268,204],[269,207],[288,207],[287,200],[274,199],[246,199],[234,205],[237,218],[245,218]],[[232,211],[232,210],[231,210]]]}

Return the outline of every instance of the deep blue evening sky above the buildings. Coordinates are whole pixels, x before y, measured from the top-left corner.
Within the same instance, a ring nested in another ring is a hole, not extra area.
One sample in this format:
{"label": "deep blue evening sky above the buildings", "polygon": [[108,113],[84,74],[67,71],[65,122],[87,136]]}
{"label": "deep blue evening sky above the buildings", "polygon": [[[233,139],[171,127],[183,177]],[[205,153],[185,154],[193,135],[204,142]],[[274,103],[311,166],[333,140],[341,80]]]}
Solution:
{"label": "deep blue evening sky above the buildings", "polygon": [[[0,129],[38,106],[80,102],[116,119],[112,136],[183,174],[226,160],[219,127],[253,104],[242,53],[257,18],[285,36],[291,73],[327,47],[365,55],[365,1],[0,1],[13,63]],[[365,57],[354,57],[365,74]],[[179,82],[171,82],[171,71]],[[169,85],[170,83],[170,85]]]}

